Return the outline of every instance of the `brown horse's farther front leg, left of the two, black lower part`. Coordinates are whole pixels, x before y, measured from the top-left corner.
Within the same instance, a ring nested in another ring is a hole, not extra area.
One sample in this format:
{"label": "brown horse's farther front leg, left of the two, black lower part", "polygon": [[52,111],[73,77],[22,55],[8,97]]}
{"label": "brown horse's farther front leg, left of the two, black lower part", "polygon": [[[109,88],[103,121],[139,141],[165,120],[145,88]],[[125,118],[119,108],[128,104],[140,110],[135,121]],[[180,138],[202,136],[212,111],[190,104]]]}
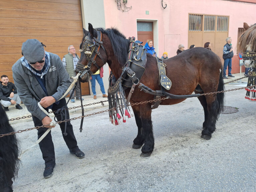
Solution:
{"label": "brown horse's farther front leg, left of the two, black lower part", "polygon": [[135,121],[138,127],[138,135],[137,137],[133,140],[132,148],[133,149],[140,149],[141,146],[144,143],[144,134],[142,134],[142,121],[140,118],[140,111],[138,106],[132,106],[132,110],[134,113]]}

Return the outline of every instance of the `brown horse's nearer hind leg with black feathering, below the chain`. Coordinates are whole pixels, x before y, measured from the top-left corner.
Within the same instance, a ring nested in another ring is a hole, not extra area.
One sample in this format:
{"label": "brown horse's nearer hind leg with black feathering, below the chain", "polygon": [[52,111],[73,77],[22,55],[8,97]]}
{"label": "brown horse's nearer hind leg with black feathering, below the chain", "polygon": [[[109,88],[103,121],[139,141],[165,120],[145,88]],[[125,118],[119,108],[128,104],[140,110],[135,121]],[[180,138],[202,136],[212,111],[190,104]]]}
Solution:
{"label": "brown horse's nearer hind leg with black feathering, below the chain", "polygon": [[202,131],[201,138],[209,140],[212,138],[212,133],[216,129],[216,121],[218,119],[219,102],[215,95],[206,95],[208,117],[206,118],[204,130]]}

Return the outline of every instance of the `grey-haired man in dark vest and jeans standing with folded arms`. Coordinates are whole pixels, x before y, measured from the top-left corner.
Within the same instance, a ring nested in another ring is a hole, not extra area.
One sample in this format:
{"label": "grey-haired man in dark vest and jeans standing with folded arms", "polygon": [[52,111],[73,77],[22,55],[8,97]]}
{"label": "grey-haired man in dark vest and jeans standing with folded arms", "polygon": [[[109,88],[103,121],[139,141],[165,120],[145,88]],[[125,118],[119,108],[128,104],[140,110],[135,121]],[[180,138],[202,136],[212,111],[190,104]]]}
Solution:
{"label": "grey-haired man in dark vest and jeans standing with folded arms", "polygon": [[[234,53],[233,53],[232,44],[231,44],[232,42],[231,37],[227,37],[225,40],[227,43],[223,47],[223,56],[222,56],[222,58],[224,59],[223,78],[227,79],[228,77],[235,77],[231,73],[232,57]],[[226,76],[227,67],[228,67],[228,77]]]}

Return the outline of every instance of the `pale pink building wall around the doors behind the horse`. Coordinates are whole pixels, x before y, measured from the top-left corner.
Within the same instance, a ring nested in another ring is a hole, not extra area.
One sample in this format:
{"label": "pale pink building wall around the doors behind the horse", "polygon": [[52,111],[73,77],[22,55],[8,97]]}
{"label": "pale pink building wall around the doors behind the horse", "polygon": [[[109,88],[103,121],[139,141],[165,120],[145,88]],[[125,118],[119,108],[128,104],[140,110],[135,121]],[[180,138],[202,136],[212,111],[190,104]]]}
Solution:
{"label": "pale pink building wall around the doors behind the horse", "polygon": [[[229,16],[229,36],[233,39],[233,45],[237,44],[238,28],[243,27],[243,22],[249,25],[256,22],[256,4],[253,3],[225,0],[164,0],[163,5],[165,4],[167,7],[163,9],[160,0],[128,0],[126,6],[132,6],[132,9],[122,12],[117,9],[114,0],[104,0],[105,27],[116,27],[127,38],[137,37],[137,19],[157,20],[158,28],[154,30],[158,32],[158,39],[154,39],[154,47],[158,56],[167,51],[170,57],[176,55],[178,44],[184,44],[185,49],[189,46],[188,13]],[[146,15],[146,11],[149,11],[149,15]],[[223,39],[223,45],[225,43]]]}

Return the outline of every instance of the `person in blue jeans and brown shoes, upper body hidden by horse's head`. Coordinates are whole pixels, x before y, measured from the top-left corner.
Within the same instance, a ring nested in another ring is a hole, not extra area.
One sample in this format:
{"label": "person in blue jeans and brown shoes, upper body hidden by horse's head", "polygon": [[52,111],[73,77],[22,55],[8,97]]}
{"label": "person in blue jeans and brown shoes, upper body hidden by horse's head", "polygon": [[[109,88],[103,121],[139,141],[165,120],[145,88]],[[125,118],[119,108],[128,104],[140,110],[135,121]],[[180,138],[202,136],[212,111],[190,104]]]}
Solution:
{"label": "person in blue jeans and brown shoes, upper body hidden by horse's head", "polygon": [[100,87],[101,87],[101,92],[102,92],[102,97],[108,97],[108,95],[106,95],[105,89],[104,89],[104,84],[103,84],[103,67],[101,67],[98,71],[96,71],[94,74],[92,74],[91,76],[91,83],[92,83],[92,91],[93,91],[93,99],[97,99],[96,96],[96,80],[98,81]]}

